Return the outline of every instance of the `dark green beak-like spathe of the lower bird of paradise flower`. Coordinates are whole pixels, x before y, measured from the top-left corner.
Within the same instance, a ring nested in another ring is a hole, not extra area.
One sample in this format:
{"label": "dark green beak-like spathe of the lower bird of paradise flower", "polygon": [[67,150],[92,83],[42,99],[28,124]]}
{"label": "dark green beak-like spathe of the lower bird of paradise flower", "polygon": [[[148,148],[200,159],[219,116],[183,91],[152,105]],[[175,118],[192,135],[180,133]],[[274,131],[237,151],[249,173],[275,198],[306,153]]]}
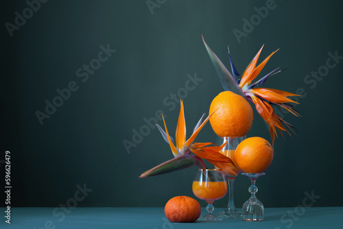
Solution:
{"label": "dark green beak-like spathe of the lower bird of paradise flower", "polygon": [[198,166],[201,169],[206,169],[206,165],[204,162],[196,155],[185,154],[182,156],[178,156],[177,158],[173,158],[171,160],[167,160],[156,167],[149,169],[142,173],[139,178],[146,178],[148,176],[156,176],[163,173],[170,173],[172,171],[177,171],[180,169],[186,169],[189,167]]}

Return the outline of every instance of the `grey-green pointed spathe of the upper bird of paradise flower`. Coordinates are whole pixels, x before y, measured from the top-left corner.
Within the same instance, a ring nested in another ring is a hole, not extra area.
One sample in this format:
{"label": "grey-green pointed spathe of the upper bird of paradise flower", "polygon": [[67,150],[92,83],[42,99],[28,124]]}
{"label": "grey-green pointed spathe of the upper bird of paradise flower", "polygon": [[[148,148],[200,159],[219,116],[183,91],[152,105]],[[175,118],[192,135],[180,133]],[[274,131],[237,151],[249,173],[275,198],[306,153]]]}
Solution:
{"label": "grey-green pointed spathe of the upper bird of paradise flower", "polygon": [[232,91],[233,93],[236,93],[237,95],[246,97],[243,91],[241,91],[241,88],[239,88],[237,82],[235,82],[235,80],[233,79],[233,76],[230,74],[228,69],[226,69],[222,61],[220,61],[220,59],[215,55],[215,53],[213,53],[213,51],[206,44],[204,40],[204,36],[202,36],[202,41],[204,42],[206,50],[209,53],[213,66],[215,67],[215,71],[217,71],[217,75],[220,79],[220,82],[222,83],[224,90]]}

